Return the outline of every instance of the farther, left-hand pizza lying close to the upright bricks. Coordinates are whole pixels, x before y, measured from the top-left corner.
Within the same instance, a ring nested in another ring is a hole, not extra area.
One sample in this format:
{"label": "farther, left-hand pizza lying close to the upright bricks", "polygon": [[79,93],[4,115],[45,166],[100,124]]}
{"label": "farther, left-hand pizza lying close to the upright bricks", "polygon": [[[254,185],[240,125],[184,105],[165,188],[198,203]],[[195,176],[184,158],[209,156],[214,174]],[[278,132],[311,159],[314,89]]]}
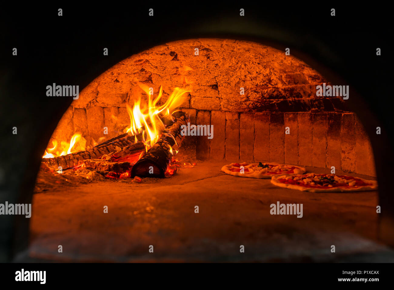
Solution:
{"label": "farther, left-hand pizza lying close to the upright bricks", "polygon": [[279,164],[275,162],[264,163],[231,163],[221,168],[221,171],[241,177],[271,178],[278,174],[303,174],[307,170],[296,165]]}

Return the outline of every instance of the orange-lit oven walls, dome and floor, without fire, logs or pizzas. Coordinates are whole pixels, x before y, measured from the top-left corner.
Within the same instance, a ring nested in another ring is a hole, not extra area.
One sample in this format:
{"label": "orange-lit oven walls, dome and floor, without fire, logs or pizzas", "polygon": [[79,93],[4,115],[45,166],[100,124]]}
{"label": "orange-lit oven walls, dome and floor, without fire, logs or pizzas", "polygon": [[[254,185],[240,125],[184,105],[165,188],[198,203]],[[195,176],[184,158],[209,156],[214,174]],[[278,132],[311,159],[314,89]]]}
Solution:
{"label": "orange-lit oven walls, dome and floor, without fire, logs or pizzas", "polygon": [[[334,166],[337,174],[375,179],[361,120],[341,97],[316,97],[316,86],[329,81],[312,67],[250,41],[165,43],[119,62],[85,87],[48,147],[76,132],[87,147],[123,134],[130,125],[126,105],[143,95],[138,83],[154,92],[162,86],[161,102],[176,87],[190,91],[180,109],[191,124],[213,125],[213,138],[186,136],[176,157],[191,166],[141,183],[42,167],[33,195],[31,258],[150,261],[146,245],[152,244],[153,260],[162,262],[338,262],[387,254],[377,237],[377,191],[308,193],[220,170],[232,162],[271,161],[315,173]],[[277,200],[303,203],[302,222],[270,215],[269,204]],[[342,254],[327,251],[333,244]],[[58,245],[69,250],[59,256]],[[248,248],[242,256],[239,245]]]}

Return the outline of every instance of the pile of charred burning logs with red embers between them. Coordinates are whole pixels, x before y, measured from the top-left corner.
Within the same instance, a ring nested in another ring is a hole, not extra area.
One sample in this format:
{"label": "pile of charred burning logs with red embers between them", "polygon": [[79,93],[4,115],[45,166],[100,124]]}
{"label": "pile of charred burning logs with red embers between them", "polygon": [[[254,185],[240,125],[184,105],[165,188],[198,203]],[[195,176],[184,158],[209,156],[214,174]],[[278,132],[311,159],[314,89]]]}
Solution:
{"label": "pile of charred burning logs with red embers between them", "polygon": [[147,152],[143,142],[134,144],[143,139],[142,134],[125,133],[89,150],[44,158],[43,163],[56,170],[59,166],[63,170],[85,167],[108,178],[164,177],[175,155],[173,150],[177,151],[184,139],[181,126],[188,122],[184,112],[175,112],[170,118],[171,125],[162,131],[160,139]]}

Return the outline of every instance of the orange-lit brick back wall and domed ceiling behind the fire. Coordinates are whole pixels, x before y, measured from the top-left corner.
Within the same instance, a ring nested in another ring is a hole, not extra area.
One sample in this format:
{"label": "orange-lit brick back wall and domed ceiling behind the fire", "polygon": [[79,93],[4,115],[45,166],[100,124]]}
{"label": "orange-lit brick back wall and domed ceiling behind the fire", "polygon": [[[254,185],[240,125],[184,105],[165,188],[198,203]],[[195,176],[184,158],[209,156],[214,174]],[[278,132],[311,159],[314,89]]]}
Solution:
{"label": "orange-lit brick back wall and domed ceiling behind the fire", "polygon": [[139,97],[147,101],[138,83],[153,88],[154,96],[162,85],[162,103],[180,87],[190,91],[182,109],[191,123],[214,127],[212,139],[185,140],[183,155],[335,166],[374,176],[372,148],[360,120],[340,97],[316,97],[316,86],[323,82],[328,84],[301,60],[261,44],[174,41],[131,56],[93,80],[52,138],[69,140],[78,131],[87,144],[89,138],[108,140],[130,124],[126,105],[133,106]]}

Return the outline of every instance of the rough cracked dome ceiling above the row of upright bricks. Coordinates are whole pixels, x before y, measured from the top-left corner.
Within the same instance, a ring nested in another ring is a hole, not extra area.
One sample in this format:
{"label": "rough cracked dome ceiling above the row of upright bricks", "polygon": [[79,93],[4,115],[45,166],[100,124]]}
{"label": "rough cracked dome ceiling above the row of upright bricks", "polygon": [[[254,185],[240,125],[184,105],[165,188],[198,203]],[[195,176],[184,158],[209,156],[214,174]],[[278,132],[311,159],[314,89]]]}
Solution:
{"label": "rough cracked dome ceiling above the row of upright bricks", "polygon": [[194,109],[335,110],[331,98],[316,102],[316,85],[327,81],[307,64],[272,47],[232,39],[174,41],[130,56],[97,77],[72,106],[132,105],[141,94],[137,82],[156,92],[162,85],[167,95],[177,86],[187,88]]}

